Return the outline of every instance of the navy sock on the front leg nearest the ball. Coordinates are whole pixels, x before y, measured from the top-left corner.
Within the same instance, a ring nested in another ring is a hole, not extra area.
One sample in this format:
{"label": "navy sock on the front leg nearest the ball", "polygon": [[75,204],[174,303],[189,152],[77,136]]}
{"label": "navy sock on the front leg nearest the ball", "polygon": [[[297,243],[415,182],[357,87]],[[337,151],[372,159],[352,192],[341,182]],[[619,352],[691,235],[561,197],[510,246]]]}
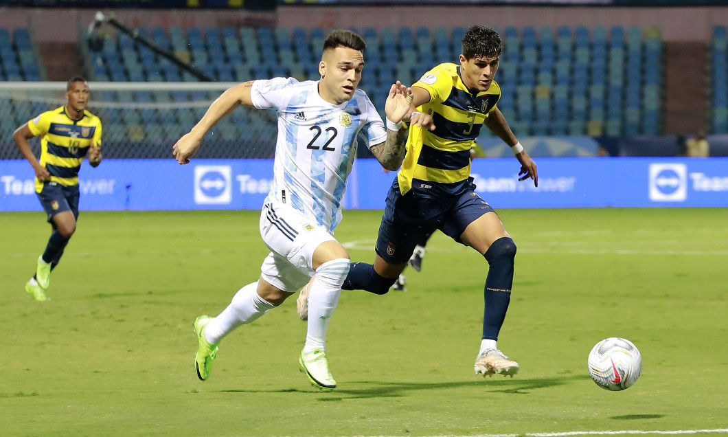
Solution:
{"label": "navy sock on the front leg nearest the ball", "polygon": [[510,304],[515,243],[509,237],[499,238],[488,248],[485,257],[489,267],[484,293],[483,339],[497,340]]}

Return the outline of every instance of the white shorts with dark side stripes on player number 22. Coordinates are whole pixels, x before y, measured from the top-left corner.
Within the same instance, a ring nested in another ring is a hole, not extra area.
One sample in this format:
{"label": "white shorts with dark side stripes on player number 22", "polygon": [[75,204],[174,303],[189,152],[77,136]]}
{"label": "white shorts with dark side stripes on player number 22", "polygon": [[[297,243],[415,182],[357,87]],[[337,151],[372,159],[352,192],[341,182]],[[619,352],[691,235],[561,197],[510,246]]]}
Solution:
{"label": "white shorts with dark side stripes on player number 22", "polygon": [[271,250],[261,266],[261,276],[288,293],[295,293],[309,282],[316,248],[336,241],[300,211],[270,198],[261,211],[261,237]]}

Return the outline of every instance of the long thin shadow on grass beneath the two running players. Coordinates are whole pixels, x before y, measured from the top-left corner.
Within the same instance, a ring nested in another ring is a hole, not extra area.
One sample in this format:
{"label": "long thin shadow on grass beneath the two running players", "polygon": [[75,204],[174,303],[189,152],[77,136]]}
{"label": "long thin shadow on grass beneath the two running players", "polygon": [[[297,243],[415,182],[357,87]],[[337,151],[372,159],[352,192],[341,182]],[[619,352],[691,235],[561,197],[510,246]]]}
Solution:
{"label": "long thin shadow on grass beneath the two running players", "polygon": [[[529,394],[530,390],[539,388],[554,387],[556,385],[569,384],[576,379],[584,379],[581,375],[570,375],[568,377],[555,377],[549,379],[485,379],[475,381],[461,382],[379,382],[379,381],[355,381],[347,382],[346,387],[352,385],[365,385],[365,388],[352,389],[341,387],[331,392],[332,397],[319,398],[320,401],[342,401],[346,399],[360,398],[400,398],[406,395],[406,392],[414,390],[449,390],[453,388],[472,387],[475,385],[484,385],[483,390],[488,393],[508,393],[508,394]],[[588,376],[587,376],[588,378]],[[323,393],[315,389],[298,390],[296,388],[287,388],[282,390],[220,390],[221,393]],[[345,395],[345,396],[344,396]]]}

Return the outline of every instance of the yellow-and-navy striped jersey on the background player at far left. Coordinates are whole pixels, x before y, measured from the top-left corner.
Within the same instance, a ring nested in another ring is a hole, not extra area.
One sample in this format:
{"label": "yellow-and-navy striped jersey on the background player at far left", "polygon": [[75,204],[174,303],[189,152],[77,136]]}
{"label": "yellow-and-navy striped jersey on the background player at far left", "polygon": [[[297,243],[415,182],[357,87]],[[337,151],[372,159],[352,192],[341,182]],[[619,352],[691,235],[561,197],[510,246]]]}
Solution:
{"label": "yellow-and-navy striped jersey on the background player at far left", "polygon": [[[89,111],[73,120],[66,114],[66,106],[45,111],[28,122],[28,129],[41,137],[40,165],[50,173],[47,181],[61,185],[79,183],[79,169],[92,143],[101,145],[101,120]],[[43,183],[36,178],[36,192]]]}

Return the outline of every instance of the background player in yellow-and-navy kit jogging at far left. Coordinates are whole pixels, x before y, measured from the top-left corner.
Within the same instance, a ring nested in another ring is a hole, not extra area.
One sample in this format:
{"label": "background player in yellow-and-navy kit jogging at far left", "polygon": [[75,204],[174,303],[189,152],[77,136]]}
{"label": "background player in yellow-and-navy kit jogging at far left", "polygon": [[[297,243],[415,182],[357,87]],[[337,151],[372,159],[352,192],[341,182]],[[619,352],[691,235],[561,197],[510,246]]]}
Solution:
{"label": "background player in yellow-and-navy kit jogging at far left", "polygon": [[[101,121],[86,110],[89,87],[81,76],[66,84],[66,105],[45,111],[12,134],[15,145],[36,173],[36,194],[51,224],[52,233],[38,259],[36,272],[25,284],[33,299],[47,300],[50,272],[76,230],[79,216],[79,169],[84,157],[90,165],[101,162]],[[41,137],[41,157],[36,159],[28,140]]]}

